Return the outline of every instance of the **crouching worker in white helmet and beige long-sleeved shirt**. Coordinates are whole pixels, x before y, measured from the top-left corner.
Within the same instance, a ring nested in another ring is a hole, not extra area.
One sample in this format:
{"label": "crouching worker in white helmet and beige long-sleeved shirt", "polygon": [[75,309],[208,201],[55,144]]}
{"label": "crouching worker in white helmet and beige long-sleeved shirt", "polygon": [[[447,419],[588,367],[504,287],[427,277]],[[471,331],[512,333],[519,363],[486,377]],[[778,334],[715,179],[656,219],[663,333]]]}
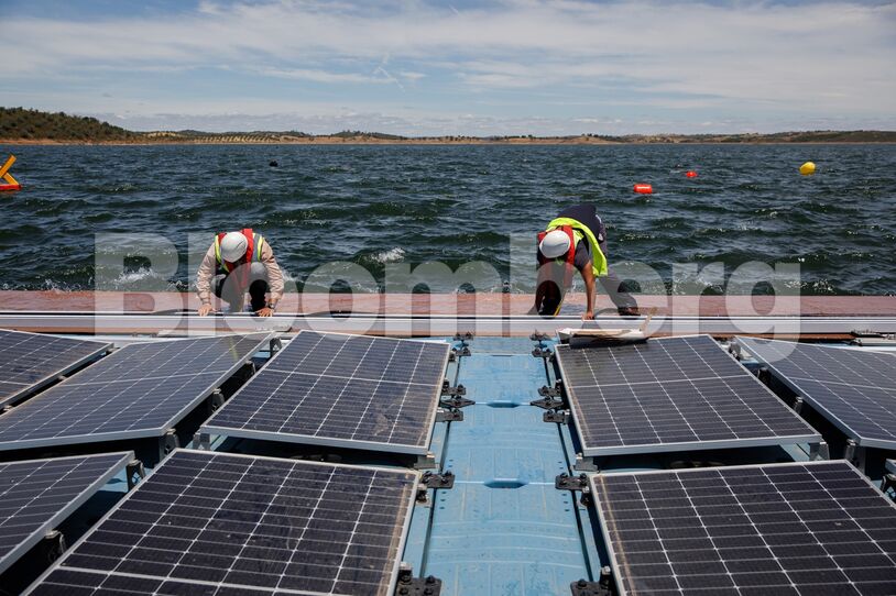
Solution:
{"label": "crouching worker in white helmet and beige long-sleeved shirt", "polygon": [[247,290],[255,314],[274,313],[283,296],[283,272],[274,252],[264,236],[249,228],[218,234],[196,275],[196,293],[203,302],[199,316],[215,311],[212,293],[230,305],[230,312],[241,312]]}

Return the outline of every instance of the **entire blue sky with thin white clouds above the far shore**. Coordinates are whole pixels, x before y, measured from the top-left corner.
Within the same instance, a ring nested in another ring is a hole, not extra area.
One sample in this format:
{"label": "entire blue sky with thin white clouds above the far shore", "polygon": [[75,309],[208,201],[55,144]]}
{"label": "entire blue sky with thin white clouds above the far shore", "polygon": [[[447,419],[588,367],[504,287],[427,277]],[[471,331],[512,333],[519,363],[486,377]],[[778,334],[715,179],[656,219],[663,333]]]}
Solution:
{"label": "entire blue sky with thin white clouds above the far shore", "polygon": [[896,130],[896,2],[0,0],[0,106],[131,130]]}

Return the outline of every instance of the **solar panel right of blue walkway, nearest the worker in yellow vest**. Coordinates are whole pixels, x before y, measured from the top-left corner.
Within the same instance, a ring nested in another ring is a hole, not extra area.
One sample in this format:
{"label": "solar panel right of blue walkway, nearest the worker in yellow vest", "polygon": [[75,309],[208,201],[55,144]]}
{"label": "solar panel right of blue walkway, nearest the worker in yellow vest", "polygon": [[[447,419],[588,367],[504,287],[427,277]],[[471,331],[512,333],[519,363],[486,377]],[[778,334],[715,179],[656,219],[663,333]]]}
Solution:
{"label": "solar panel right of blue walkway, nearest the worker in yellow vest", "polygon": [[821,441],[709,335],[560,345],[557,362],[586,456]]}

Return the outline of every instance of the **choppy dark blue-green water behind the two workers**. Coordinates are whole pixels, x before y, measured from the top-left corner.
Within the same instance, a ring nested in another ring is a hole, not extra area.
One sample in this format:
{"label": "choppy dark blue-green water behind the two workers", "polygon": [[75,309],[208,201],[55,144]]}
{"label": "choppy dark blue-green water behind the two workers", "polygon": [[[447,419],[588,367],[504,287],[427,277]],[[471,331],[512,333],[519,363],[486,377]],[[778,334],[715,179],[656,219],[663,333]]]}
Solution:
{"label": "choppy dark blue-green water behind the two workers", "polygon": [[[805,294],[896,293],[894,145],[0,146],[10,151],[26,189],[0,195],[8,289],[92,288],[95,234],[109,232],[174,242],[181,266],[161,282],[183,289],[188,235],[208,234],[201,252],[243,225],[298,283],[329,261],[379,278],[386,263],[433,260],[506,272],[510,234],[534,243],[562,207],[592,201],[611,261],[667,279],[670,263],[757,260],[799,263]],[[807,159],[816,176],[799,176]],[[120,289],[155,275],[129,263]]]}

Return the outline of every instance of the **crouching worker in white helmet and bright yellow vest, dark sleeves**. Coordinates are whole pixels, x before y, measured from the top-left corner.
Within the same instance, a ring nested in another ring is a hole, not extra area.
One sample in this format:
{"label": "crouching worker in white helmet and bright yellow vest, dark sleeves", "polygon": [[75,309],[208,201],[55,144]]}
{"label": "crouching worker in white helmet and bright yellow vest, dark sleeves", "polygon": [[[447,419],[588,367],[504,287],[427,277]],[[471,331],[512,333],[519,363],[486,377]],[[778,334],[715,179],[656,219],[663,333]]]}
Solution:
{"label": "crouching worker in white helmet and bright yellow vest, dark sleeves", "polygon": [[607,264],[607,231],[590,205],[562,210],[538,234],[538,282],[535,310],[556,317],[578,271],[584,280],[588,306],[582,319],[594,318],[595,283],[599,280],[621,316],[638,314],[634,298],[622,287]]}

